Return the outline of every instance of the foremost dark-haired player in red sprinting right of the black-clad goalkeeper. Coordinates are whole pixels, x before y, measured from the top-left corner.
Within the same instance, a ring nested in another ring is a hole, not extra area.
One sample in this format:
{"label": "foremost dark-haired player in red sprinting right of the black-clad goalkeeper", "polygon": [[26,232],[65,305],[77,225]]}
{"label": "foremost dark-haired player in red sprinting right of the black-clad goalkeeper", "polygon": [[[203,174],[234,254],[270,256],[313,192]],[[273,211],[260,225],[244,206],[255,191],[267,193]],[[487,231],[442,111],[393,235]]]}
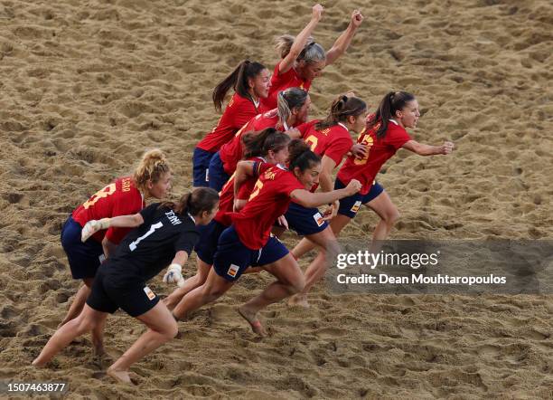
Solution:
{"label": "foremost dark-haired player in red sprinting right of the black-clad goalkeeper", "polygon": [[[260,169],[248,203],[239,213],[231,214],[232,225],[220,235],[207,281],[184,296],[173,310],[175,318],[183,318],[192,310],[218,299],[249,266],[263,266],[277,281],[242,305],[239,313],[248,320],[254,332],[265,336],[267,333],[257,318],[258,311],[304,289],[305,278],[294,257],[283,243],[270,236],[273,224],[286,212],[292,200],[306,207],[316,207],[357,193],[361,185],[352,179],[346,188],[311,193],[309,189],[317,183],[321,171],[321,158],[300,139],[293,140],[288,149],[288,169],[267,165]],[[239,168],[243,173],[235,177],[235,193],[241,182],[256,169],[255,163],[250,161],[240,163],[249,168]]]}

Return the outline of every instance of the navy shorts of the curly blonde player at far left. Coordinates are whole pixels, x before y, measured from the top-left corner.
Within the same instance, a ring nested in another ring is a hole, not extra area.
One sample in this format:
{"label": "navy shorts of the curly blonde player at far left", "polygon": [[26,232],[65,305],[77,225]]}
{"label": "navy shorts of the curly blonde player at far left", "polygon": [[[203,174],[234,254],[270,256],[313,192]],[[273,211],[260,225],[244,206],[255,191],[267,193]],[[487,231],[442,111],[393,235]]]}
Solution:
{"label": "navy shorts of the curly blonde player at far left", "polygon": [[102,244],[90,237],[80,242],[82,227],[70,216],[61,228],[61,246],[70,262],[73,279],[94,278],[98,267],[104,261]]}

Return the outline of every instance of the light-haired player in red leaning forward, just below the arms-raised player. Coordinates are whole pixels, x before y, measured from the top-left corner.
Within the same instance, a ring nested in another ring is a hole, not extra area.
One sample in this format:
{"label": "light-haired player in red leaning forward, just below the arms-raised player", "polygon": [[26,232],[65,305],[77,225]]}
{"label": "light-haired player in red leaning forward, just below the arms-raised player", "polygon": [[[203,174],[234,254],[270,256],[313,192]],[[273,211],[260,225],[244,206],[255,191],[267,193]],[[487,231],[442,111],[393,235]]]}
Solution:
{"label": "light-haired player in red leaning forward, just below the arms-raised player", "polygon": [[307,120],[310,106],[311,99],[305,90],[288,88],[280,92],[277,109],[250,119],[236,136],[211,158],[210,187],[220,190],[236,170],[236,165],[243,156],[240,138],[244,133],[260,132],[266,128],[289,131]]}

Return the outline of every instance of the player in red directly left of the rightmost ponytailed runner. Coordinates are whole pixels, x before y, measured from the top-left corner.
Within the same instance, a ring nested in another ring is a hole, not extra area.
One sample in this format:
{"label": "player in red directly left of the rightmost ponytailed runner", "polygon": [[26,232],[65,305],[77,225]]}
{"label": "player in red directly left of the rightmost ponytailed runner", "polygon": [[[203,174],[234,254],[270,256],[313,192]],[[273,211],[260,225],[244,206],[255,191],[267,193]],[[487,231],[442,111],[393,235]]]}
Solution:
{"label": "player in red directly left of the rightmost ponytailed runner", "polygon": [[[342,164],[343,158],[351,151],[353,140],[350,130],[361,133],[365,128],[366,118],[367,104],[359,98],[345,95],[333,101],[326,119],[308,123],[309,127],[305,129],[302,137],[311,150],[322,157],[319,182],[323,192],[333,190],[333,170]],[[364,154],[362,150],[360,154]],[[317,186],[312,187],[311,191],[314,192],[316,188]],[[305,288],[290,298],[291,305],[308,307],[307,292],[323,277],[327,258],[333,259],[339,252],[333,230],[326,223],[326,220],[338,212],[339,203],[334,202],[323,214],[319,213],[317,208],[306,208],[294,201],[290,203],[285,214],[288,225],[298,234],[305,236],[304,241],[314,243],[319,248],[319,254],[305,270]],[[292,250],[292,254],[297,259],[295,249]]]}

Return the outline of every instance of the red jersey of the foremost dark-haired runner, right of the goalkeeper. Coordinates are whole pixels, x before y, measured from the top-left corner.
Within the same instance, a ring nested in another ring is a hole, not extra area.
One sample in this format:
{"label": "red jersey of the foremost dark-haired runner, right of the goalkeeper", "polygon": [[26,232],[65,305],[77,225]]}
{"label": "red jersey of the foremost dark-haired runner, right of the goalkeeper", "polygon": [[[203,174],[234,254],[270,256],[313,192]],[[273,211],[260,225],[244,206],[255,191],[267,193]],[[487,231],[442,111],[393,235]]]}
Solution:
{"label": "red jersey of the foremost dark-haired runner, right of the goalkeeper", "polygon": [[286,213],[295,189],[305,187],[283,167],[271,166],[261,173],[246,206],[231,214],[240,242],[251,250],[262,248],[277,218]]}

